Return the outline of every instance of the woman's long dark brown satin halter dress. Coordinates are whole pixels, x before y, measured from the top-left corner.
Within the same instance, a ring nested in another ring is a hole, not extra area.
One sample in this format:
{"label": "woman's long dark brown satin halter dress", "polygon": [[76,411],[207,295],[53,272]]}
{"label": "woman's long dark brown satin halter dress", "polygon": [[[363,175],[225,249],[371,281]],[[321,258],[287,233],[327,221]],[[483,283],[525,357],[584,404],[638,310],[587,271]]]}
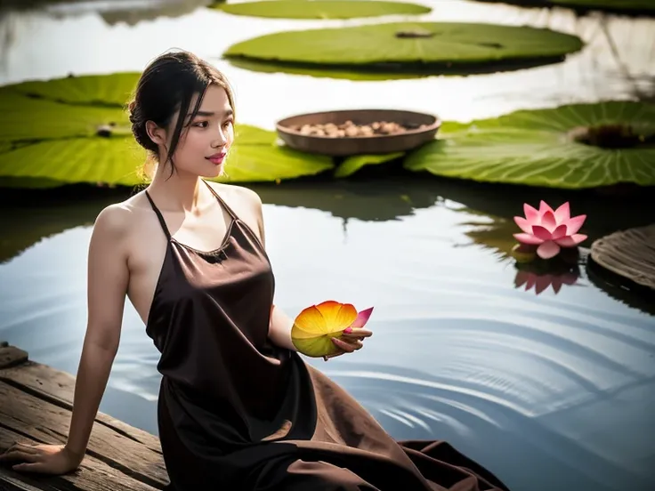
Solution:
{"label": "woman's long dark brown satin halter dress", "polygon": [[211,252],[171,237],[146,191],[168,239],[146,329],[161,352],[158,427],[170,488],[505,490],[444,442],[392,439],[339,385],[271,343],[271,263],[206,184],[231,217]]}

